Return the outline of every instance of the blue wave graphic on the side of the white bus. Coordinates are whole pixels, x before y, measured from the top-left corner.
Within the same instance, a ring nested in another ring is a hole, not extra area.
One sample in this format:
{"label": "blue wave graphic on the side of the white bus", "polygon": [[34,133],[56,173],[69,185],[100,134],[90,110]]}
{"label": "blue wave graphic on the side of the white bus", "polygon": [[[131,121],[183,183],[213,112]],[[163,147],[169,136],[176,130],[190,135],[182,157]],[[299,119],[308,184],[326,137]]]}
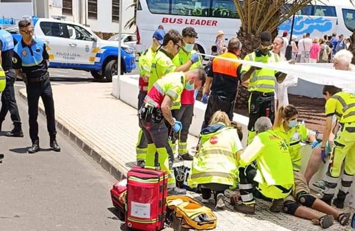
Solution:
{"label": "blue wave graphic on the side of the white bus", "polygon": [[[279,26],[280,31],[291,32],[292,19],[285,21]],[[293,34],[300,35],[305,33],[312,33],[317,30],[320,32],[330,31],[332,29],[333,23],[331,20],[319,18],[306,18],[302,16],[295,17],[295,23],[293,26]]]}

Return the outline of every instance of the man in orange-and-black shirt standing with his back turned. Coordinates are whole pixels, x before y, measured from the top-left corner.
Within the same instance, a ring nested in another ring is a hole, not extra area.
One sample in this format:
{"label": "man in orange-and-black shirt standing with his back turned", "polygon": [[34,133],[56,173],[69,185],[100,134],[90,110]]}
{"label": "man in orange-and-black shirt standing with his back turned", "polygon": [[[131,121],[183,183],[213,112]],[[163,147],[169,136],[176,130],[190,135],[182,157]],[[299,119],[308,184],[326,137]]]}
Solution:
{"label": "man in orange-and-black shirt standing with his back turned", "polygon": [[[237,54],[239,54],[241,48],[242,44],[239,39],[232,38],[228,43],[228,51],[215,57],[212,63],[210,63],[211,67],[207,73],[209,78],[203,89],[202,97],[202,101],[208,101],[202,129],[209,125],[209,120],[211,120],[214,112],[218,110],[226,112],[229,119],[233,120],[234,103],[240,79],[241,65],[239,62],[222,58],[238,60],[239,57]],[[221,59],[219,59],[219,57]],[[211,95],[208,97],[210,88]]]}

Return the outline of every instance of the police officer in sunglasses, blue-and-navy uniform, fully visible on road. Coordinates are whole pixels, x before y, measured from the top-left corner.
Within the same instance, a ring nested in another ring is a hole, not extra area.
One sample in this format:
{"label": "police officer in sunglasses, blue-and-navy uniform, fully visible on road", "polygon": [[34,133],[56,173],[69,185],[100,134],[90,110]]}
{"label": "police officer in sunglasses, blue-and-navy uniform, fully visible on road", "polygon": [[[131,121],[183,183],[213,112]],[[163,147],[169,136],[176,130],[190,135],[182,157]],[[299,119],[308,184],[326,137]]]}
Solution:
{"label": "police officer in sunglasses, blue-and-navy uniform, fully visible on road", "polygon": [[42,40],[33,38],[33,27],[30,21],[21,20],[18,22],[18,29],[22,35],[22,39],[13,49],[12,62],[16,74],[22,77],[26,83],[29,135],[32,141],[32,147],[28,149],[28,152],[36,153],[39,151],[37,123],[39,97],[42,98],[47,116],[50,147],[54,151],[60,152],[60,147],[56,141],[54,102],[49,81],[47,66],[49,55],[46,51],[46,46]]}

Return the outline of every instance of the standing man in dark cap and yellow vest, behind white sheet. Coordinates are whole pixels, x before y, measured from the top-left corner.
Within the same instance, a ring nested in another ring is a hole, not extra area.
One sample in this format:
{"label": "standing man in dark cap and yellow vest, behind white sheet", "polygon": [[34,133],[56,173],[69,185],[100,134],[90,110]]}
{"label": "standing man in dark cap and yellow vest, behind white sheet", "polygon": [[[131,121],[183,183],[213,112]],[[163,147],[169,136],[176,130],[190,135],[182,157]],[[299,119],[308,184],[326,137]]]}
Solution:
{"label": "standing man in dark cap and yellow vest, behind white sheet", "polygon": [[[280,61],[280,56],[270,52],[272,49],[271,34],[269,32],[262,32],[260,35],[260,46],[249,55],[245,56],[246,61],[255,61],[262,63],[274,63]],[[249,82],[249,136],[248,143],[251,142],[255,136],[254,123],[261,117],[269,117],[271,122],[274,122],[275,117],[275,85],[276,81],[282,83],[286,74],[255,66],[242,65],[241,81]]]}

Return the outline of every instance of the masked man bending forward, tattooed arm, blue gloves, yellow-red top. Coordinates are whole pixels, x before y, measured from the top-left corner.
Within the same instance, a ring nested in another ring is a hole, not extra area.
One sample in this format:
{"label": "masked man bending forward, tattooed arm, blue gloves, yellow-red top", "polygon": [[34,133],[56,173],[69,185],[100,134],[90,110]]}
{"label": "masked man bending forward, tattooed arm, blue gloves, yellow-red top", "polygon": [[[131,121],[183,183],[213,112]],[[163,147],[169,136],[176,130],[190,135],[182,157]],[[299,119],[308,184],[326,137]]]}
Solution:
{"label": "masked man bending forward, tattooed arm, blue gloves, yellow-red top", "polygon": [[[147,139],[148,148],[146,156],[146,167],[160,166],[169,174],[168,193],[185,194],[185,189],[179,189],[175,184],[173,151],[169,145],[168,128],[165,122],[171,125],[174,132],[181,131],[182,124],[171,115],[172,103],[181,96],[182,89],[186,84],[194,84],[195,89],[200,88],[206,81],[206,75],[202,69],[195,69],[188,72],[169,73],[154,83],[148,92],[141,109],[138,112],[140,126],[143,128],[144,136]],[[165,119],[165,120],[164,120]],[[173,134],[172,134],[173,135]],[[155,152],[158,154],[156,159]]]}

